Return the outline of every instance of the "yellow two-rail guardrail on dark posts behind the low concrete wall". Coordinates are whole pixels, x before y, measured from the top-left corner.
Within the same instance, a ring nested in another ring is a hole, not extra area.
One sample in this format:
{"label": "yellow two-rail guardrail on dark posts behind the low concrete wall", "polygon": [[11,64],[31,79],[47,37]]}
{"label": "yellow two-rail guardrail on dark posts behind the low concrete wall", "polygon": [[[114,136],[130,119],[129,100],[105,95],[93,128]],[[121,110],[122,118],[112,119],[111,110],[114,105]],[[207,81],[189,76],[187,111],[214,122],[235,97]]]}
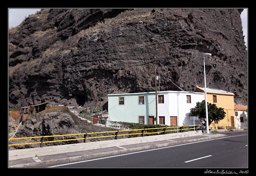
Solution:
{"label": "yellow two-rail guardrail on dark posts behind the low concrete wall", "polygon": [[[192,127],[194,127],[194,128],[192,128]],[[178,129],[168,130],[169,128],[178,128]],[[200,124],[198,124],[198,125],[186,125],[186,126],[170,126],[170,127],[161,127],[161,128],[143,128],[143,129],[134,129],[134,130],[115,130],[115,131],[91,132],[91,133],[80,133],[80,134],[63,134],[63,135],[53,135],[53,136],[35,136],[35,137],[25,137],[25,138],[10,138],[9,141],[10,140],[23,140],[23,139],[41,138],[41,142],[17,143],[17,144],[9,144],[9,146],[41,144],[40,147],[43,147],[43,143],[51,143],[51,142],[63,142],[63,141],[72,141],[72,140],[83,140],[83,142],[86,142],[87,139],[108,138],[108,137],[114,137],[115,139],[118,139],[118,136],[128,136],[128,135],[138,135],[138,134],[141,134],[142,137],[144,137],[145,134],[160,134],[160,133],[165,134],[166,132],[170,132],[170,131],[183,132],[184,130],[197,130],[199,128],[200,128]],[[161,131],[158,131],[159,129]],[[146,132],[147,130],[157,130],[157,132]],[[138,133],[129,133],[129,134],[118,134],[119,132],[132,132],[132,131],[140,131],[140,132],[138,132]],[[114,135],[109,135],[109,136],[87,137],[87,135],[101,134],[101,133],[115,133],[115,134]],[[82,138],[76,138],[76,139],[67,139],[67,140],[44,141],[45,138],[61,137],[61,136],[78,136],[78,135],[83,135],[83,137]]]}

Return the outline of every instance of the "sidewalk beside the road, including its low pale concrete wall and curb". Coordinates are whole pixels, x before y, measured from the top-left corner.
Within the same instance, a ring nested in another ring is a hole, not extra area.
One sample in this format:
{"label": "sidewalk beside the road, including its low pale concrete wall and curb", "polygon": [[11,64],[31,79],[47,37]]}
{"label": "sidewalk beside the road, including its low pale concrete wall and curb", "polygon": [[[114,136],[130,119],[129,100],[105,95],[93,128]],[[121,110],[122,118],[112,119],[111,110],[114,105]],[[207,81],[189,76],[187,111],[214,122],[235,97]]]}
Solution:
{"label": "sidewalk beside the road, including its low pale concrete wall and curb", "polygon": [[10,150],[8,155],[9,167],[49,167],[147,149],[199,142],[224,136],[226,135],[202,134],[202,131],[191,131],[157,136]]}

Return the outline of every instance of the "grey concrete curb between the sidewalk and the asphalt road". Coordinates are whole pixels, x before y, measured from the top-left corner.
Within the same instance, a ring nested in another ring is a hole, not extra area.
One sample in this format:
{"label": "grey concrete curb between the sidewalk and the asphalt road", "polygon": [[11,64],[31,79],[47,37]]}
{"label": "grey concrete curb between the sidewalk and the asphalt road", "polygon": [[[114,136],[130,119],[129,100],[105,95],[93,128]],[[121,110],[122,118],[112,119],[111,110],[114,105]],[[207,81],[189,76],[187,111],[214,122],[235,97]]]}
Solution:
{"label": "grey concrete curb between the sidewalk and the asphalt road", "polygon": [[75,162],[80,162],[80,161],[87,161],[87,160],[91,160],[91,159],[98,159],[101,157],[111,157],[111,156],[122,155],[122,154],[126,154],[126,153],[133,153],[133,152],[137,152],[137,151],[150,150],[150,149],[156,149],[156,148],[161,148],[161,147],[169,147],[169,146],[173,146],[173,145],[180,145],[180,144],[191,143],[191,142],[206,141],[206,140],[211,140],[211,139],[222,138],[225,136],[227,136],[227,135],[219,134],[218,136],[207,136],[205,138],[178,141],[178,142],[174,142],[174,143],[148,145],[148,146],[144,146],[144,147],[107,151],[107,152],[103,152],[103,153],[94,153],[94,154],[89,154],[89,155],[81,155],[81,156],[67,157],[67,158],[61,158],[61,159],[52,159],[52,160],[48,160],[48,161],[40,161],[40,162],[36,162],[36,163],[13,165],[13,166],[9,166],[9,167],[50,167],[50,166],[55,166],[55,165],[64,165],[64,164],[75,163]]}

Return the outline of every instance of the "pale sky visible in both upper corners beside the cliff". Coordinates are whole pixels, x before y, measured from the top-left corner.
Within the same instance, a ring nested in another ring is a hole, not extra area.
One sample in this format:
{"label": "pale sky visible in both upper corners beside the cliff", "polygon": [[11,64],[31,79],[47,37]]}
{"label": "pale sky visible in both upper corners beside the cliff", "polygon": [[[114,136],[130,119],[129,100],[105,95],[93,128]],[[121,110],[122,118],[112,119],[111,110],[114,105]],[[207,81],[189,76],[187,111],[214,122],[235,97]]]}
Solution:
{"label": "pale sky visible in both upper corners beside the cliff", "polygon": [[[8,27],[16,27],[19,25],[25,17],[28,15],[34,14],[41,9],[8,9],[8,20],[9,24]],[[244,33],[244,42],[247,48],[247,36],[248,36],[248,29],[247,29],[247,21],[248,21],[248,9],[244,9],[241,13],[242,19],[242,28]]]}

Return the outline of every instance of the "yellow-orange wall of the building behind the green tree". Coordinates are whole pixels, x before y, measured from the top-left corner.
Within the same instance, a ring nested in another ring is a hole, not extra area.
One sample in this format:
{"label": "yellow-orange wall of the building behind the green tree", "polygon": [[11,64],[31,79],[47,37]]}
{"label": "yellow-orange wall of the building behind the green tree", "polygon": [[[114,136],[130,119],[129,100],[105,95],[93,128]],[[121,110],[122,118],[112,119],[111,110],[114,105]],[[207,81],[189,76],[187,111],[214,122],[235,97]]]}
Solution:
{"label": "yellow-orange wall of the building behind the green tree", "polygon": [[[209,125],[209,128],[215,127],[217,129],[217,126],[229,126],[231,127],[231,118],[233,117],[234,123],[235,123],[235,106],[234,106],[234,96],[228,95],[228,94],[215,94],[211,92],[207,92],[207,101],[208,103],[213,103],[213,95],[217,96],[217,107],[221,107],[226,112],[226,115],[223,120],[219,121],[219,124],[214,124],[212,122]],[[236,124],[234,125],[236,127]]]}

